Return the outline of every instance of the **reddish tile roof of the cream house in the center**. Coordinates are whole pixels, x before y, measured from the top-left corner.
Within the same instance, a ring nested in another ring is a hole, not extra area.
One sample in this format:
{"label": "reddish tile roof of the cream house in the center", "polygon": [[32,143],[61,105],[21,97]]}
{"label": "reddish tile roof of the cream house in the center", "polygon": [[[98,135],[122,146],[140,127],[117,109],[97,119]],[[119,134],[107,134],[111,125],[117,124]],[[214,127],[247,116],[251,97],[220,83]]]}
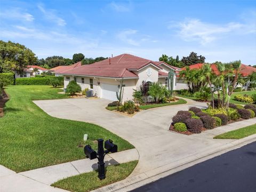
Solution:
{"label": "reddish tile roof of the cream house in the center", "polygon": [[131,54],[121,54],[110,59],[105,59],[99,62],[92,63],[91,65],[83,65],[81,67],[62,71],[61,74],[116,78],[138,78],[138,75],[133,73],[133,70],[139,70],[149,65],[150,63],[159,70],[162,69],[162,67],[159,66],[161,63],[163,63],[162,61],[155,62]]}

